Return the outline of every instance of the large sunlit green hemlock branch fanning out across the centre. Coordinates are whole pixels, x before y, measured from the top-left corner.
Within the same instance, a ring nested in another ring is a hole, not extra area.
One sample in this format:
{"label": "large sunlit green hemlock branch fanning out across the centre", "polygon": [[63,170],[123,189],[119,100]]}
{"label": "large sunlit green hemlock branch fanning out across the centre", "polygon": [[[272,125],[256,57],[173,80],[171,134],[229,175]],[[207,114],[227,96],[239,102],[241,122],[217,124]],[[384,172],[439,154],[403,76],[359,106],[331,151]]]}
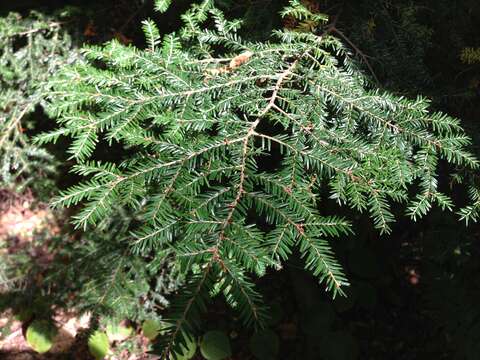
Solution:
{"label": "large sunlit green hemlock branch fanning out across the centre", "polygon": [[[282,15],[324,21],[298,1]],[[263,326],[253,278],[281,268],[294,249],[333,296],[343,294],[348,281],[329,242],[352,230],[323,214],[323,190],[389,233],[392,203],[407,204],[413,219],[433,205],[452,209],[438,188],[440,161],[478,167],[457,119],[430,112],[424,98],[372,89],[328,33],[283,30],[249,42],[237,33],[241,21],[227,21],[209,0],[182,18],[181,32],[163,38],[145,21],[145,50],[117,41],[84,48],[85,61],[49,82],[59,128],[38,138],[72,138],[73,171],[87,179],[54,204],[83,203],[78,227],[119,207],[134,214],[117,239],[125,252],[101,262],[99,273],[113,276],[111,308],[138,299],[140,278],[175,259],[185,284],[160,339],[165,358],[195,331],[211,296],[222,294],[246,325]],[[92,160],[100,144],[114,143],[126,150],[121,161]],[[135,274],[129,289],[116,283],[123,273]],[[120,295],[128,291],[134,296]]]}

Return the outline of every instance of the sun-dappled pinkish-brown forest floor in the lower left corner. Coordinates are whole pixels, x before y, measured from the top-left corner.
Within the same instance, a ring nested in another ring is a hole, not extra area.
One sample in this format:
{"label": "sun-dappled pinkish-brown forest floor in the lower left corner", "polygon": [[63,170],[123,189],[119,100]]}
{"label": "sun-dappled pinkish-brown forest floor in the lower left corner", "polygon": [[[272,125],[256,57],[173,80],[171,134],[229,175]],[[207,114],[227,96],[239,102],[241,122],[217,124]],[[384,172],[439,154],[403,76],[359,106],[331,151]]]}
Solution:
{"label": "sun-dappled pinkish-brown forest floor in the lower left corner", "polygon": [[[68,286],[45,280],[65,265],[57,256],[63,236],[56,215],[30,192],[0,189],[1,359],[74,359],[78,349],[78,359],[90,358],[81,337],[89,318],[63,310]],[[25,340],[34,320],[51,321],[57,329],[47,354],[37,354]]]}

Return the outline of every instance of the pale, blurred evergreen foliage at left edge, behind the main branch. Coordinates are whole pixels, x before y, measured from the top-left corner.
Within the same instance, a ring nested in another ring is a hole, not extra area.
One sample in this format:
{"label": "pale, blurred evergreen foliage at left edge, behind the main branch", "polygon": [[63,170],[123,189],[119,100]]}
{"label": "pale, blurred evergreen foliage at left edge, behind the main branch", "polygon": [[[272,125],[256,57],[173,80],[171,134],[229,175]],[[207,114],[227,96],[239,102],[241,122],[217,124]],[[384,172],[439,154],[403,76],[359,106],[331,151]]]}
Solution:
{"label": "pale, blurred evergreen foliage at left edge, behind the main branch", "polygon": [[32,12],[0,18],[0,185],[35,187],[34,177],[54,172],[51,155],[27,135],[35,126],[28,115],[43,106],[49,77],[76,54],[70,36],[51,17]]}

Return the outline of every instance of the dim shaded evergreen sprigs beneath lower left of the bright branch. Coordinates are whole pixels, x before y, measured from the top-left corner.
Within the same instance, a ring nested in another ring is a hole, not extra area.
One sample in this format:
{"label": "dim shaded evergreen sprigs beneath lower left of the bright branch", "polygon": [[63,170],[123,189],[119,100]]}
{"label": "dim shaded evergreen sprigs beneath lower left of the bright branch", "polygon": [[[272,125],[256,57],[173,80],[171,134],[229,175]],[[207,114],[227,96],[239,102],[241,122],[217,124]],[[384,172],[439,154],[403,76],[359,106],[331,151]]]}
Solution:
{"label": "dim shaded evergreen sprigs beneath lower left of the bright branch", "polygon": [[[54,266],[45,279],[45,285],[62,289],[54,294],[57,303],[106,319],[158,317],[156,312],[169,305],[166,297],[179,288],[183,278],[168,256],[159,253],[156,261],[148,261],[131,253],[129,229],[135,221],[131,213],[117,208],[80,241],[62,243],[60,254],[68,259],[67,265]],[[75,298],[66,299],[68,293],[75,293]]]}

